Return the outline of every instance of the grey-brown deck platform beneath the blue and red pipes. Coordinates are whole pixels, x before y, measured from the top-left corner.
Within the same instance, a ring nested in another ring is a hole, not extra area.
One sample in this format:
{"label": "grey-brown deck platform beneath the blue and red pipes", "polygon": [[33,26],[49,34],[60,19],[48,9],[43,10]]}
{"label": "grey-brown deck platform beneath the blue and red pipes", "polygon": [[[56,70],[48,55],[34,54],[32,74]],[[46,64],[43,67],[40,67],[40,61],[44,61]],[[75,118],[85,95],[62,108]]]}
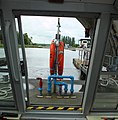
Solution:
{"label": "grey-brown deck platform beneath the blue and red pipes", "polygon": [[[64,93],[62,93],[61,96],[59,96],[58,94],[58,87],[57,87],[57,92],[53,93],[53,87],[52,86],[52,94],[51,97],[48,97],[48,92],[47,92],[47,80],[44,79],[43,80],[43,97],[37,97],[39,95],[39,91],[38,91],[38,80],[34,80],[34,79],[30,79],[29,80],[30,84],[32,84],[34,86],[34,89],[29,91],[29,96],[30,96],[30,103],[31,104],[41,104],[41,105],[56,105],[56,106],[60,106],[60,105],[64,105],[64,106],[76,106],[76,105],[81,105],[82,103],[82,96],[83,96],[83,92],[79,92],[79,87],[78,87],[78,91],[76,90],[76,92],[74,92],[73,95],[70,94],[70,90],[68,90],[67,95],[64,95]],[[64,82],[70,84],[69,80],[64,80]],[[78,81],[75,81],[75,85],[79,85]],[[46,97],[47,96],[47,97]]]}

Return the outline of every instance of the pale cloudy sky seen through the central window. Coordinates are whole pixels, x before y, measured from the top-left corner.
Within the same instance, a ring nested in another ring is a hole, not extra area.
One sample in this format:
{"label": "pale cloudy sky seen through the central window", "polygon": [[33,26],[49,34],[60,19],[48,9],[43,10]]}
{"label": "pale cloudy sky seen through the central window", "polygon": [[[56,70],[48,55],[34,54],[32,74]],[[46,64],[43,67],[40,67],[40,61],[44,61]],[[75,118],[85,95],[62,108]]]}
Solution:
{"label": "pale cloudy sky seen through the central window", "polygon": [[[33,43],[50,44],[57,33],[58,17],[22,16],[23,33],[32,37]],[[75,37],[76,43],[85,36],[85,29],[76,18],[60,17],[61,36]]]}

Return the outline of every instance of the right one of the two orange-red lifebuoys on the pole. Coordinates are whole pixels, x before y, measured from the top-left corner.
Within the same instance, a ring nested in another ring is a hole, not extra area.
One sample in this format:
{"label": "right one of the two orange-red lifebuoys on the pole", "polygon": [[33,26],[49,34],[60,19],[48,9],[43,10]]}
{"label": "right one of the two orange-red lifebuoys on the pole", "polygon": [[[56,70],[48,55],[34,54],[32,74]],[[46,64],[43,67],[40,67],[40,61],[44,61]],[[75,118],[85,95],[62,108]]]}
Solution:
{"label": "right one of the two orange-red lifebuoys on the pole", "polygon": [[58,75],[63,74],[63,66],[64,66],[64,42],[61,41],[58,47]]}

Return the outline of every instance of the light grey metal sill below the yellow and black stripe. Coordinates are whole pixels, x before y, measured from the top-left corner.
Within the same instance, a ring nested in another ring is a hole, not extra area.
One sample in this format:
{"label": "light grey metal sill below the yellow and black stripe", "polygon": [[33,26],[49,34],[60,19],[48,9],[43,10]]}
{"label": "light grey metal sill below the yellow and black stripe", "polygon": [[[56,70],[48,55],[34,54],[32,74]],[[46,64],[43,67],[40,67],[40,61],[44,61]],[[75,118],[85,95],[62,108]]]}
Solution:
{"label": "light grey metal sill below the yellow and black stripe", "polygon": [[86,120],[86,118],[79,113],[65,113],[64,112],[40,112],[40,113],[34,113],[34,112],[30,112],[30,113],[25,113],[21,116],[22,120],[26,120],[26,119],[30,119],[30,120]]}

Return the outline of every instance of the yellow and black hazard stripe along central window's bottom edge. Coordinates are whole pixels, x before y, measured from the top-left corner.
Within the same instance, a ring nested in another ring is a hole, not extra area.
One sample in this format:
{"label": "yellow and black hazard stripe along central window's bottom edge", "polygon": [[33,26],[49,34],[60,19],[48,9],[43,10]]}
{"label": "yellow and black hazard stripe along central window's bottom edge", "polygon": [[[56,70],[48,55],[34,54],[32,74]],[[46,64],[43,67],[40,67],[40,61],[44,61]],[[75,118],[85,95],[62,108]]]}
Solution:
{"label": "yellow and black hazard stripe along central window's bottom edge", "polygon": [[81,111],[81,107],[42,107],[42,106],[29,106],[27,110],[79,110]]}

